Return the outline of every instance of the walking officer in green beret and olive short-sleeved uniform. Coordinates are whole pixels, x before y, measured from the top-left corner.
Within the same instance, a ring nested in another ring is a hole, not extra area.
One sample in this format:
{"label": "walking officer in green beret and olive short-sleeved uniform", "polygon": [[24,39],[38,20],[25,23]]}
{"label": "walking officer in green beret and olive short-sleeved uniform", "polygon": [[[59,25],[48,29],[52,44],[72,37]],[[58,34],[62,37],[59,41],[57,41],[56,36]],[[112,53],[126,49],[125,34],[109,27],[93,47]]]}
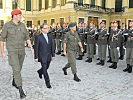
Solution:
{"label": "walking officer in green beret and olive short-sleeved uniform", "polygon": [[64,55],[68,55],[68,63],[63,68],[64,74],[67,75],[67,68],[71,67],[72,73],[74,74],[74,80],[79,82],[81,81],[77,76],[77,68],[76,68],[76,52],[78,45],[80,46],[81,51],[83,52],[83,46],[81,44],[78,33],[76,32],[76,24],[70,23],[69,25],[70,31],[66,33],[64,38]]}

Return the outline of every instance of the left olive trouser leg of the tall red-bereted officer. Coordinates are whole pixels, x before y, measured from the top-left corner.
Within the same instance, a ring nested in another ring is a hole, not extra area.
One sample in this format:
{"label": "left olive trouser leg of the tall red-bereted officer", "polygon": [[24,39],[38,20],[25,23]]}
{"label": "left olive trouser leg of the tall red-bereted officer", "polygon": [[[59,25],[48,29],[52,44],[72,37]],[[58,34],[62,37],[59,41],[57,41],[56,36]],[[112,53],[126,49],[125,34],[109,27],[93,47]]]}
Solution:
{"label": "left olive trouser leg of the tall red-bereted officer", "polygon": [[21,66],[19,63],[18,52],[9,52],[9,65],[12,67],[13,76],[17,87],[22,86]]}

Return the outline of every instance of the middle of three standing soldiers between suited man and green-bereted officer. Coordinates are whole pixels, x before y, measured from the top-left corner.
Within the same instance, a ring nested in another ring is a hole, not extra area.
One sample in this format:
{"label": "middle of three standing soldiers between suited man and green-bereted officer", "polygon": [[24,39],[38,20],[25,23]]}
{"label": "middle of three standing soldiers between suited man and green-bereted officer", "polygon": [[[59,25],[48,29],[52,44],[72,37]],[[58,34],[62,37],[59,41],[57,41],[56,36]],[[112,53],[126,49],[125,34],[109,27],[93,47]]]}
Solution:
{"label": "middle of three standing soldiers between suited man and green-bereted officer", "polygon": [[60,24],[57,24],[57,28],[56,28],[56,43],[57,43],[57,55],[61,54],[61,26]]}

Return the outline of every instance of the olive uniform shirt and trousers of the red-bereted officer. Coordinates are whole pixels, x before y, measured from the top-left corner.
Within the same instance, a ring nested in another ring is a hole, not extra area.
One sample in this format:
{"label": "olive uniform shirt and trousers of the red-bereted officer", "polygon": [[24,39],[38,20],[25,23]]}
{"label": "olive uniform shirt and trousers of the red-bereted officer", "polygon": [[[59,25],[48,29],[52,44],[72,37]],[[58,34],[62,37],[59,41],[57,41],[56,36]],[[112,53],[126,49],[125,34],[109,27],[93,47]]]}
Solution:
{"label": "olive uniform shirt and trousers of the red-bereted officer", "polygon": [[17,86],[22,86],[21,69],[25,57],[25,41],[29,39],[23,23],[16,25],[11,20],[3,26],[1,40],[6,42],[8,61]]}

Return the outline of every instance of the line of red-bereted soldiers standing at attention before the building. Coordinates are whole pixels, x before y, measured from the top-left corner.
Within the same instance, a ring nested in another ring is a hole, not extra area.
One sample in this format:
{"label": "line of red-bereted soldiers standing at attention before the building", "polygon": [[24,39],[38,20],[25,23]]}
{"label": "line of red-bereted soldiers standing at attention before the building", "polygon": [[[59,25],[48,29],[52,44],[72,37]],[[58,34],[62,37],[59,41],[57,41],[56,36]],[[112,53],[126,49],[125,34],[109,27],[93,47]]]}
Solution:
{"label": "line of red-bereted soldiers standing at attention before the building", "polygon": [[[127,68],[123,71],[131,73],[133,66],[133,20],[130,21],[129,26],[130,28],[126,29],[125,23],[122,23],[122,28],[118,29],[118,22],[113,21],[108,31],[105,21],[100,23],[99,29],[96,28],[93,22],[89,24],[89,27],[86,23],[78,23],[77,33],[83,45],[84,52],[81,52],[80,48],[78,48],[77,60],[82,60],[84,54],[87,52],[88,59],[86,62],[91,63],[96,54],[96,47],[98,46],[99,58],[97,60],[99,62],[97,65],[103,66],[105,64],[108,49],[109,60],[107,62],[112,63],[109,68],[116,69],[119,59],[124,59],[126,48]],[[69,27],[65,23],[62,26],[60,24],[57,26],[52,24],[50,27],[50,33],[53,35],[53,46],[54,50],[57,51],[57,55],[60,55],[63,51],[63,40],[68,31]]]}

